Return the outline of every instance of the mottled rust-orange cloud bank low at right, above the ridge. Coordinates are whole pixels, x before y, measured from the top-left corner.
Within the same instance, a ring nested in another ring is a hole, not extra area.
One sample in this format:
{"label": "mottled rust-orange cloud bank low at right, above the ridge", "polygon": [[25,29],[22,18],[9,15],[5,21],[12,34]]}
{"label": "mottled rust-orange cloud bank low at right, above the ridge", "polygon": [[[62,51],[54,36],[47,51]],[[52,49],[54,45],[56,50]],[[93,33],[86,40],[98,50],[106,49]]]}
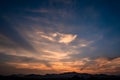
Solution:
{"label": "mottled rust-orange cloud bank low at right, above the ridge", "polygon": [[114,58],[113,60],[109,60],[108,58],[96,58],[90,59],[87,61],[82,67],[81,71],[90,71],[92,73],[106,73],[112,74],[117,73],[119,74],[120,69],[120,58]]}

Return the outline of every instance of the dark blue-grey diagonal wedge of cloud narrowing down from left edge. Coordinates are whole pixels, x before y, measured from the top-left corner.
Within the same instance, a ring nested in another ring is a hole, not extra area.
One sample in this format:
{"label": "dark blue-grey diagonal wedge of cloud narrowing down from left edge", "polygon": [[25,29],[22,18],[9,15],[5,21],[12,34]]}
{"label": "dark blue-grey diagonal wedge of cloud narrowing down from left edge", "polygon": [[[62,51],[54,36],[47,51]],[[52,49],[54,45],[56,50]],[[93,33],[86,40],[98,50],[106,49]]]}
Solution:
{"label": "dark blue-grey diagonal wedge of cloud narrowing down from left edge", "polygon": [[[12,42],[16,43],[18,47],[26,50],[35,51],[32,45],[18,32],[14,27],[6,22],[5,19],[0,18],[0,35],[7,37]],[[2,44],[3,42],[0,42]],[[5,43],[5,42],[4,42]],[[8,43],[8,42],[6,42]],[[4,45],[3,45],[4,46]],[[9,45],[12,47],[12,44]],[[7,47],[7,46],[6,46]],[[17,47],[17,46],[16,46]]]}

